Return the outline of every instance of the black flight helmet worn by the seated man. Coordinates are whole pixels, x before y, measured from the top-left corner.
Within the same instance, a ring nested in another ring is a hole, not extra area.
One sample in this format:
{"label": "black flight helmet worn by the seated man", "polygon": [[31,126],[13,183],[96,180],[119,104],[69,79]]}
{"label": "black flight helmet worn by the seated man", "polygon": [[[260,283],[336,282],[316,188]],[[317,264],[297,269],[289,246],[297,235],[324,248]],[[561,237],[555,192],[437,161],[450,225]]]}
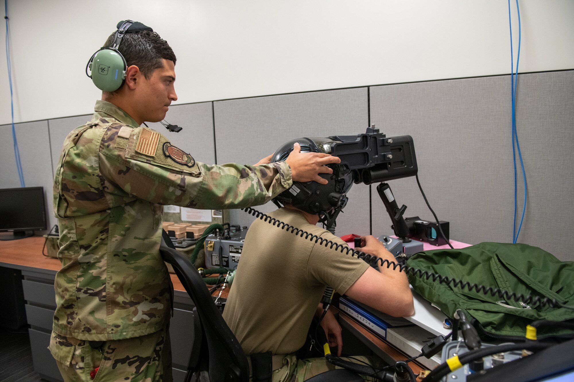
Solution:
{"label": "black flight helmet worn by the seated man", "polygon": [[[271,157],[271,162],[284,161],[294,143],[301,145],[302,153],[331,154],[331,145],[338,143],[331,138],[298,138],[286,142]],[[321,223],[327,228],[335,224],[339,212],[347,204],[347,192],[354,180],[353,172],[346,165],[336,163],[327,165],[333,169],[332,174],[319,174],[328,184],[311,182],[293,182],[293,186],[273,199],[277,205],[291,204],[302,211],[319,215]],[[280,203],[280,204],[279,204]]]}

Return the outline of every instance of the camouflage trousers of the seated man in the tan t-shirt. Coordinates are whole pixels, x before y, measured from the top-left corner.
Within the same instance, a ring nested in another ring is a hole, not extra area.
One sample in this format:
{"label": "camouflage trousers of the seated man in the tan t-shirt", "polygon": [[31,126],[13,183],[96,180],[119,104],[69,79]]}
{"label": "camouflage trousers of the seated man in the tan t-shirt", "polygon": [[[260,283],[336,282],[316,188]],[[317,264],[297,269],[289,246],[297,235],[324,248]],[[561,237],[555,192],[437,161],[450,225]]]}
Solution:
{"label": "camouflage trousers of the seated man in the tan t-shirt", "polygon": [[[341,359],[361,364],[366,362],[374,367],[382,367],[382,361],[377,357],[354,356],[352,358],[341,357]],[[272,382],[302,382],[311,377],[319,375],[329,370],[340,369],[327,361],[327,358],[307,358],[298,360],[295,354],[287,354],[283,358],[283,367],[272,373]],[[362,375],[363,380],[375,381],[373,377]]]}

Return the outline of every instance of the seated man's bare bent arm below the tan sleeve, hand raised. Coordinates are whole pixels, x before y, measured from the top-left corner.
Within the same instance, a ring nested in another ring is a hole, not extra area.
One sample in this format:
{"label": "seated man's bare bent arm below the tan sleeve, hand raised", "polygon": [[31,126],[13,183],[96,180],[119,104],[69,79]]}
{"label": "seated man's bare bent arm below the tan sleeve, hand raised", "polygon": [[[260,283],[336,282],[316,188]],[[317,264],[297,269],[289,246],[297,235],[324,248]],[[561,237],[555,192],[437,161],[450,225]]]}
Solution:
{"label": "seated man's bare bent arm below the tan sleeve, hand raised", "polygon": [[[363,247],[358,250],[395,261],[394,256],[374,236],[363,236],[361,239]],[[394,317],[413,315],[413,295],[405,272],[400,272],[398,267],[393,270],[393,267],[379,266],[379,269],[380,272],[369,267],[345,294]]]}

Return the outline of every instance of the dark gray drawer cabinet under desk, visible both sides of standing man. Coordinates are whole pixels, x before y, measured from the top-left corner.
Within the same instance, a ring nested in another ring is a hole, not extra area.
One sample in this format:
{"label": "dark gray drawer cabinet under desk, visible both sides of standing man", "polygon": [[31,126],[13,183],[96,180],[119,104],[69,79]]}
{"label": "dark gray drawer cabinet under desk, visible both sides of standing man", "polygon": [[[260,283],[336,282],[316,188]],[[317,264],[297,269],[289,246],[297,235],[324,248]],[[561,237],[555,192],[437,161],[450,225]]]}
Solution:
{"label": "dark gray drawer cabinet under desk, visible both sides of standing man", "polygon": [[[56,309],[54,279],[56,272],[41,268],[22,270],[26,321],[30,325],[30,348],[34,371],[42,379],[59,382],[62,377],[48,346],[52,332],[52,318]],[[187,293],[174,292],[173,317],[169,334],[172,346],[173,380],[183,382],[191,346],[193,344],[193,302]]]}

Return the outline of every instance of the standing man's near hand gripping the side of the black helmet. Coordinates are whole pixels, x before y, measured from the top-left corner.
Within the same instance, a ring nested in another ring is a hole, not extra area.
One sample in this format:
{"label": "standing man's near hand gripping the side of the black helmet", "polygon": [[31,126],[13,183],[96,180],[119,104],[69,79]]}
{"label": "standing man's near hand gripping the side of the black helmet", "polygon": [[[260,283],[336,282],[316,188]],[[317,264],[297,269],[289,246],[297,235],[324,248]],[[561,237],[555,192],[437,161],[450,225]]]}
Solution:
{"label": "standing man's near hand gripping the side of the black helmet", "polygon": [[325,153],[301,153],[301,145],[295,143],[293,151],[291,151],[285,162],[291,167],[293,181],[316,181],[320,184],[327,184],[328,181],[321,178],[319,174],[332,174],[333,170],[325,165],[340,163],[341,159]]}

